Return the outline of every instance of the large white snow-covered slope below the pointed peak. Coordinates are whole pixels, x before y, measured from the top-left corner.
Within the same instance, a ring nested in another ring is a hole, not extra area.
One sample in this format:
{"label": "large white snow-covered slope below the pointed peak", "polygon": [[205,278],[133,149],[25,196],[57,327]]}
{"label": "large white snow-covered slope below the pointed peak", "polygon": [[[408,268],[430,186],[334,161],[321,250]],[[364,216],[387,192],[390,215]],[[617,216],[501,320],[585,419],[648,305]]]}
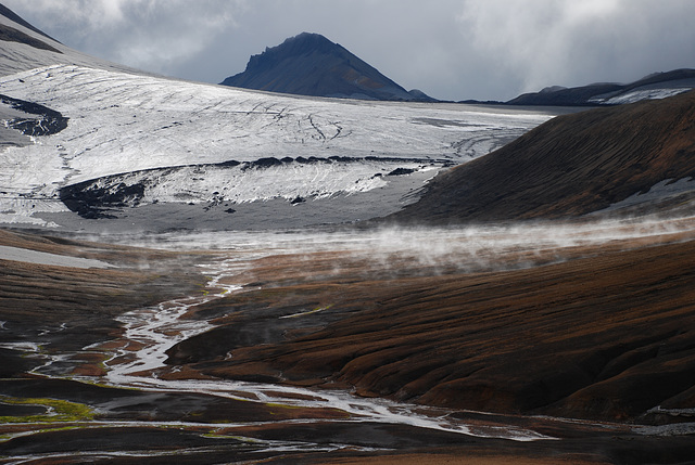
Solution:
{"label": "large white snow-covered slope below the pointed peak", "polygon": [[[62,188],[98,178],[106,189],[144,186],[146,203],[365,192],[397,168],[486,154],[552,116],[292,98],[74,65],[0,78],[0,89],[68,118],[66,129],[0,153],[4,221],[34,221],[33,211],[56,208],[49,201]],[[170,167],[188,168],[160,169]]]}

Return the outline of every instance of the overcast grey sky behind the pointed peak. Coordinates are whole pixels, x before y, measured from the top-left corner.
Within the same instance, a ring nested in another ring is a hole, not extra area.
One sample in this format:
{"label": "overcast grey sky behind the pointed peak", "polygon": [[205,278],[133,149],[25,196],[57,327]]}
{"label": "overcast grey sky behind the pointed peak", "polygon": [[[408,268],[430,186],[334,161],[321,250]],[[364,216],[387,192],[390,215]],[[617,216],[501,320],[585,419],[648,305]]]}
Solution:
{"label": "overcast grey sky behind the pointed peak", "polygon": [[220,82],[319,33],[406,89],[508,100],[695,68],[694,0],[0,0],[66,46]]}

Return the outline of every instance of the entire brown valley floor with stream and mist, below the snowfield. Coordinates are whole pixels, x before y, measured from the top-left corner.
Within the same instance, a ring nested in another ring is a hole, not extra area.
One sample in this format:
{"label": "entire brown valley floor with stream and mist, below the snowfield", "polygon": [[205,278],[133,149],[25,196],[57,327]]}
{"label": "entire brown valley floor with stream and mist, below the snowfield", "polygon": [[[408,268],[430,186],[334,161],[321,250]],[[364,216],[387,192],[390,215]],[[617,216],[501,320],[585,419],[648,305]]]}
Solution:
{"label": "entire brown valley floor with stream and mist, below the snowfield", "polygon": [[695,456],[693,218],[135,237],[0,231],[0,463]]}

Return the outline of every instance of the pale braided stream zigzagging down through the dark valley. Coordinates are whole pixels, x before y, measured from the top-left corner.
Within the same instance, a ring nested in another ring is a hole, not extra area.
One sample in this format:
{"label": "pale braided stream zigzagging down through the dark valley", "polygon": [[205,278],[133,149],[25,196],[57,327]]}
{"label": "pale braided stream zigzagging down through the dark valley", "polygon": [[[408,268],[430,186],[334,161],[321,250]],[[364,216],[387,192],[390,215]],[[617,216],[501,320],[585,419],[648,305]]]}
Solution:
{"label": "pale braided stream zigzagging down through the dark valley", "polygon": [[[131,351],[119,349],[105,364],[110,367],[105,382],[115,387],[129,387],[141,390],[191,392],[218,396],[249,401],[249,396],[263,403],[290,406],[339,409],[353,416],[353,422],[402,424],[419,428],[437,429],[463,435],[504,438],[517,441],[553,439],[548,436],[515,426],[470,425],[453,417],[453,411],[415,404],[405,404],[384,399],[356,398],[349,392],[309,390],[271,384],[247,383],[236,380],[161,379],[150,372],[165,366],[166,350],[175,344],[201,334],[213,326],[206,321],[181,319],[193,306],[222,298],[241,288],[236,284],[224,284],[235,276],[243,263],[235,259],[219,260],[205,266],[210,277],[211,293],[197,297],[170,300],[155,308],[141,309],[124,314],[121,321],[125,325],[123,339],[138,346]],[[122,362],[127,360],[126,362]],[[147,372],[147,373],[144,373]],[[247,396],[243,396],[247,393]],[[283,396],[287,395],[287,396]],[[321,422],[321,419],[302,419],[302,422]],[[207,425],[210,426],[210,425]],[[231,426],[225,424],[224,426]]]}

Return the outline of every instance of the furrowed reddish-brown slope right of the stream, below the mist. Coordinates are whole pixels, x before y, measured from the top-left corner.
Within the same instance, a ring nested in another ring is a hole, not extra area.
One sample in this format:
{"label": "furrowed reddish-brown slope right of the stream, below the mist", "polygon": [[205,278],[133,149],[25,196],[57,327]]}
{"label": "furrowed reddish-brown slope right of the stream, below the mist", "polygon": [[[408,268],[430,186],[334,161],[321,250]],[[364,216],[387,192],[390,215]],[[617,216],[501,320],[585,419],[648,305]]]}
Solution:
{"label": "furrowed reddish-brown slope right of the stream, below the mist", "polygon": [[[626,419],[695,408],[695,242],[621,250],[637,245],[420,277],[367,277],[332,255],[273,257],[254,273],[275,284],[201,308],[220,326],[177,345],[169,362],[501,413]],[[324,310],[281,319],[312,309]]]}

